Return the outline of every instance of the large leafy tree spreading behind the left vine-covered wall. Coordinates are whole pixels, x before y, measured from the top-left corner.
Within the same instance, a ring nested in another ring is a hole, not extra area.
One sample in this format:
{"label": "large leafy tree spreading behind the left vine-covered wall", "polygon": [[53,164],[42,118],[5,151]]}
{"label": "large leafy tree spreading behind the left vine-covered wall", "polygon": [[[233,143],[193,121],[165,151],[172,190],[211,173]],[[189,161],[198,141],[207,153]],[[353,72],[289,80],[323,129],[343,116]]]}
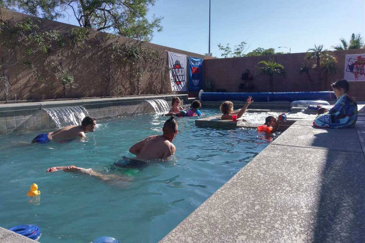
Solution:
{"label": "large leafy tree spreading behind the left vine-covered wall", "polygon": [[57,20],[71,10],[80,27],[150,41],[153,31],[162,31],[162,17],[146,15],[155,0],[0,0],[0,7]]}

